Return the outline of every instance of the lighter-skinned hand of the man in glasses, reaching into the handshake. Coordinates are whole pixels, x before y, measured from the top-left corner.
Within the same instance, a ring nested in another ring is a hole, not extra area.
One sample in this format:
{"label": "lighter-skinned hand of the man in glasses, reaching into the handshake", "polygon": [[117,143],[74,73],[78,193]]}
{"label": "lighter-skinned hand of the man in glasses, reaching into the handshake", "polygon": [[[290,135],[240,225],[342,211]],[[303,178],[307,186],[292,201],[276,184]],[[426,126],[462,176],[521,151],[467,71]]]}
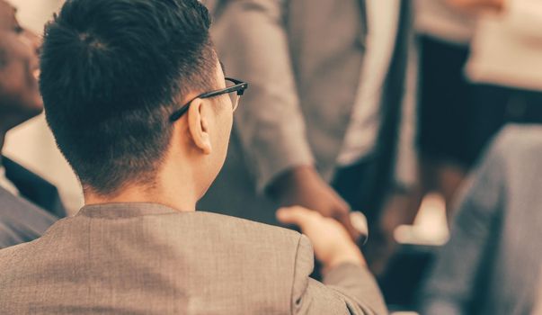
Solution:
{"label": "lighter-skinned hand of the man in glasses, reaching into the handshake", "polygon": [[282,208],[277,211],[277,219],[284,224],[295,224],[310,239],[315,257],[324,265],[324,270],[343,263],[365,266],[360,248],[351,240],[344,227],[320,213],[303,207]]}

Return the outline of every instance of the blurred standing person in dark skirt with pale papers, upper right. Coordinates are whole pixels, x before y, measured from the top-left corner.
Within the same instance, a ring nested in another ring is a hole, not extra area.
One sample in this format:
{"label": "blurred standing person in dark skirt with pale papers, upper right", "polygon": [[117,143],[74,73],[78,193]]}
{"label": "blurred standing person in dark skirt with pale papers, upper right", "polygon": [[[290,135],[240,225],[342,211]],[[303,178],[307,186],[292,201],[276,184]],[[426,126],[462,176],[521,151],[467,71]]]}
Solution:
{"label": "blurred standing person in dark skirt with pale papers, upper right", "polygon": [[[418,0],[422,194],[448,205],[507,122],[540,122],[542,14],[537,0]],[[451,215],[448,212],[449,216]]]}

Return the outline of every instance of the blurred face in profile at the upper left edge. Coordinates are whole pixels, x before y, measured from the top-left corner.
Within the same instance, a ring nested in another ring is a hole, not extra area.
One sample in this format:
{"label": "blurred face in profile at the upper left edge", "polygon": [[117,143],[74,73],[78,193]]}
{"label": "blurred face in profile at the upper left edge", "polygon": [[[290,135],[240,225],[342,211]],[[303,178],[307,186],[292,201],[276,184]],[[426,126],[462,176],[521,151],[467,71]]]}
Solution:
{"label": "blurred face in profile at the upper left edge", "polygon": [[0,115],[13,125],[43,110],[38,85],[40,39],[19,25],[15,13],[13,5],[0,0]]}

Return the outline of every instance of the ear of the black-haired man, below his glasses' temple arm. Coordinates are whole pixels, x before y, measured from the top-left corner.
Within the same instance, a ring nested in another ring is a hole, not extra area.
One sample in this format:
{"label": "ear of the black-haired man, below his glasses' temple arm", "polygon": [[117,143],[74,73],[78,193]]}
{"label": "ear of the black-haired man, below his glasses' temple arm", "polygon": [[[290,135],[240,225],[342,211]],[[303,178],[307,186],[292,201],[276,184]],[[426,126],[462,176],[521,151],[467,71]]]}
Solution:
{"label": "ear of the black-haired man, below his glasses' temple arm", "polygon": [[209,135],[209,117],[203,112],[203,100],[197,98],[191,102],[188,115],[188,131],[194,145],[209,155],[212,152],[212,146]]}

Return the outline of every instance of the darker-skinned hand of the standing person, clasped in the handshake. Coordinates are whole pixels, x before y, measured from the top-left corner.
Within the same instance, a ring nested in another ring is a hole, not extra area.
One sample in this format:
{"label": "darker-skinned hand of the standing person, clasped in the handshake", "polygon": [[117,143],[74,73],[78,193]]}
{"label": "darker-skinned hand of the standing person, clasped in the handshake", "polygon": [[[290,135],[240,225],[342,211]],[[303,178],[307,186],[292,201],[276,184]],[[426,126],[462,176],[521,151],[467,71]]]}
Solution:
{"label": "darker-skinned hand of the standing person, clasped in the handshake", "polygon": [[324,182],[314,167],[298,166],[280,176],[271,184],[270,193],[282,206],[298,205],[339,220],[354,241],[360,238],[360,232],[351,225],[350,206]]}

